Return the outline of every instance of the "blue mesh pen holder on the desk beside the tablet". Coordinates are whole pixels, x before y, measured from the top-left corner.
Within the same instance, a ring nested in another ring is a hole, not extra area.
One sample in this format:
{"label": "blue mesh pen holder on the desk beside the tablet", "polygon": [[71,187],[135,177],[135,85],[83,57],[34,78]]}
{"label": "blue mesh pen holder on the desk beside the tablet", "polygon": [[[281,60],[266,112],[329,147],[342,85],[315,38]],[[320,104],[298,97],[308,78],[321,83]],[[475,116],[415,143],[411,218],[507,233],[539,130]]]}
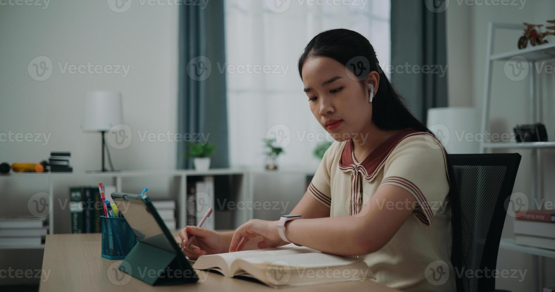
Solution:
{"label": "blue mesh pen holder on the desk beside the tablet", "polygon": [[100,216],[102,225],[102,257],[124,259],[139,242],[123,217]]}

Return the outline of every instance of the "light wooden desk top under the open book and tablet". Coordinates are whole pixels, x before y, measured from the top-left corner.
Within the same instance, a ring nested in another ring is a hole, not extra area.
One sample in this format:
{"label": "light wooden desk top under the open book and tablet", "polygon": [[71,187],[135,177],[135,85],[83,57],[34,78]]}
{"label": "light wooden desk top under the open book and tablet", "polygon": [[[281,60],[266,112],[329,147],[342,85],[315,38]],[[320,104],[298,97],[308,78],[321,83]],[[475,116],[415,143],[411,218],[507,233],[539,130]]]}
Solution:
{"label": "light wooden desk top under the open book and tablet", "polygon": [[[176,234],[174,234],[176,235]],[[179,237],[177,237],[179,238]],[[150,286],[122,273],[122,260],[100,257],[100,233],[47,235],[42,263],[41,292],[46,291],[276,291],[254,281],[199,271],[195,284]],[[114,268],[115,267],[115,268]],[[115,284],[114,284],[115,283]],[[120,284],[120,285],[116,285]],[[372,280],[284,288],[286,291],[398,291]]]}

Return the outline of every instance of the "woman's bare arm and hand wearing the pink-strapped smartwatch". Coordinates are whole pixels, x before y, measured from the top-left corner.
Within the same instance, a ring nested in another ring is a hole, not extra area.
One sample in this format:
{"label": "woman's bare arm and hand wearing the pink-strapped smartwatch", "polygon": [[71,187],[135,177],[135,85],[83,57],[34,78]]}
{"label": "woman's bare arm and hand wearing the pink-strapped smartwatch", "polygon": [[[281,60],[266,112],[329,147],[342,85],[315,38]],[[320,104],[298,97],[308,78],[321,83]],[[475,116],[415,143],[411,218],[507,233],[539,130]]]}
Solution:
{"label": "woman's bare arm and hand wearing the pink-strapped smartwatch", "polygon": [[[326,253],[369,254],[382,248],[395,235],[411,216],[415,204],[416,199],[405,189],[381,186],[356,216],[303,216],[286,223],[287,238],[295,244]],[[242,250],[250,238],[258,235],[263,235],[265,242],[281,241],[278,221],[255,219],[243,224],[235,230],[229,251]]]}

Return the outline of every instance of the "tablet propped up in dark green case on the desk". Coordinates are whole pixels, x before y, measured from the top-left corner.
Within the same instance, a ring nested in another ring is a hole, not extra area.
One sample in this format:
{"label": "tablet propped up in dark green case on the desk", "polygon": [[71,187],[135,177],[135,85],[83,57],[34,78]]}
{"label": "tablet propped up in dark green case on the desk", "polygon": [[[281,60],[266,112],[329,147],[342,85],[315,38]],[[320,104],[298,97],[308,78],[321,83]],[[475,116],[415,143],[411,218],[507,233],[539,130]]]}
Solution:
{"label": "tablet propped up in dark green case on the desk", "polygon": [[[166,258],[171,257],[173,258],[171,259],[173,269],[180,270],[183,275],[188,275],[182,276],[180,279],[175,278],[175,276],[171,277],[174,282],[191,283],[198,280],[198,276],[191,267],[189,260],[185,258],[183,251],[175,242],[173,235],[171,235],[170,230],[166,227],[147,195],[114,192],[112,193],[112,199],[139,240],[137,243],[139,247],[135,245],[125,260],[130,262],[132,260],[128,259],[130,255],[135,258],[142,258],[140,261],[143,263],[149,261],[149,259],[152,259],[152,262],[157,262],[160,257],[155,254],[163,255]],[[148,246],[145,246],[145,244]],[[139,249],[141,252],[138,254]],[[148,250],[152,252],[147,252]],[[135,275],[132,274],[132,276]]]}

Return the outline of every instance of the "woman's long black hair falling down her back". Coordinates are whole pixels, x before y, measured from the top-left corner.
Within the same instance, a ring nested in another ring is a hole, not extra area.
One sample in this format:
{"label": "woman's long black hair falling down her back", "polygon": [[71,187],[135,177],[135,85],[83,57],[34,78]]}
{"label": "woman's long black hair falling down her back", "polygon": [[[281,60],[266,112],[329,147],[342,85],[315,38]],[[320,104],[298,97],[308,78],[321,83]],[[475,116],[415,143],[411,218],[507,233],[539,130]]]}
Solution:
{"label": "woman's long black hair falling down her back", "polygon": [[[372,121],[374,121],[374,124],[384,130],[412,128],[435,136],[432,131],[416,119],[410,110],[407,109],[405,99],[397,93],[390,81],[387,80],[384,71],[380,68],[374,47],[372,47],[369,40],[360,33],[349,29],[338,28],[326,30],[317,34],[316,37],[312,38],[306,45],[304,52],[302,52],[299,58],[299,74],[301,75],[301,79],[302,66],[309,57],[332,58],[346,66],[346,68],[349,68],[353,73],[355,73],[354,67],[351,67],[349,63],[352,62],[352,60],[365,60],[364,65],[370,67],[370,70],[366,71],[367,73],[377,71],[380,74],[379,88],[374,100],[372,100]],[[364,84],[364,79],[360,82],[361,86],[366,88],[367,85]],[[443,151],[445,151],[445,149],[443,149]],[[445,152],[445,154],[447,175],[450,185],[447,199],[451,203],[452,222],[451,230],[448,230],[448,232],[451,233],[452,250],[460,250],[460,203],[456,194],[457,187],[453,166],[447,152]],[[458,253],[452,253],[453,256],[451,261],[453,265],[458,265],[460,264],[460,259],[454,257],[455,254]],[[457,278],[457,285],[458,284]]]}

